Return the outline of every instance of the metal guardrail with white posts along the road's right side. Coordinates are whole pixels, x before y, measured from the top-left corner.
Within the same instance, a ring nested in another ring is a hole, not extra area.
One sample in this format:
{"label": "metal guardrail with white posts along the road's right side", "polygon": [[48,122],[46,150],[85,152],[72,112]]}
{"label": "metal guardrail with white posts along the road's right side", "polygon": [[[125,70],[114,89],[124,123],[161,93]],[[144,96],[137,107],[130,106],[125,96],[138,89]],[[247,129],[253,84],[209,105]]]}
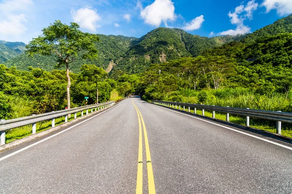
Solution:
{"label": "metal guardrail with white posts along the road's right side", "polygon": [[292,123],[292,113],[282,113],[281,111],[262,111],[262,110],[253,110],[253,109],[239,109],[239,108],[230,108],[230,107],[221,107],[221,106],[210,106],[210,105],[201,105],[201,104],[190,104],[190,103],[180,103],[180,102],[169,102],[169,101],[159,101],[152,100],[152,103],[181,109],[185,111],[185,107],[188,107],[188,112],[190,108],[194,108],[194,112],[197,113],[197,109],[202,110],[202,115],[204,116],[204,110],[212,111],[212,117],[215,118],[215,112],[226,113],[226,121],[229,122],[229,114],[236,114],[241,116],[246,116],[246,126],[249,127],[250,117],[273,120],[277,122],[277,133],[281,134],[281,124]]}

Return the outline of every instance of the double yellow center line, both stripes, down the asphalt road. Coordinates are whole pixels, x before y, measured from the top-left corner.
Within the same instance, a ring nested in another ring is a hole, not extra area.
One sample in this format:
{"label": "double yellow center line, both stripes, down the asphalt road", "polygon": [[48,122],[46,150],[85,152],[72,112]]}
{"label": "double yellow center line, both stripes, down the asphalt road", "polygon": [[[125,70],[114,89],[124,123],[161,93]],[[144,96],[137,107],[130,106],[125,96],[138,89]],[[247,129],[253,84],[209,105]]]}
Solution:
{"label": "double yellow center line, both stripes, down the asphalt road", "polygon": [[[155,194],[155,184],[154,184],[154,176],[153,176],[153,169],[151,163],[151,156],[150,156],[150,148],[148,143],[147,131],[146,126],[142,117],[141,112],[139,111],[138,107],[135,105],[134,101],[132,103],[136,109],[138,120],[139,120],[139,152],[138,152],[138,172],[137,172],[137,185],[136,185],[136,194],[143,193],[143,149],[142,149],[142,126],[143,125],[143,132],[144,132],[144,140],[145,140],[145,148],[146,148],[146,163],[147,163],[147,178],[148,178],[148,191],[149,194]],[[141,121],[140,121],[141,120]]]}

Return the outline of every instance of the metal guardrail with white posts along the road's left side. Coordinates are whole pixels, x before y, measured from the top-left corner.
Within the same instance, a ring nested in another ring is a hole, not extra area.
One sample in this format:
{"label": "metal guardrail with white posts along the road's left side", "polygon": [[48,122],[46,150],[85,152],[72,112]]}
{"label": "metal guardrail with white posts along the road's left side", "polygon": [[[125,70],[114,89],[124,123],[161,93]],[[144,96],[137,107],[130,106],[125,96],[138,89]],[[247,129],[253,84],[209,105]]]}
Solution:
{"label": "metal guardrail with white posts along the road's left side", "polygon": [[86,110],[86,114],[88,114],[88,110],[91,109],[91,113],[93,112],[93,109],[95,111],[98,109],[103,109],[106,107],[109,107],[113,105],[115,102],[105,102],[100,104],[92,104],[88,106],[82,106],[82,107],[76,107],[73,109],[66,109],[61,111],[53,111],[50,113],[43,113],[43,114],[37,114],[32,116],[26,116],[16,119],[10,119],[10,120],[0,120],[0,146],[5,144],[5,131],[8,129],[14,129],[18,127],[22,127],[25,125],[32,124],[32,131],[33,134],[37,132],[37,122],[46,121],[46,120],[52,120],[52,127],[55,127],[55,118],[65,116],[65,123],[67,123],[68,114],[74,114],[74,119],[77,118],[77,113],[81,112],[81,116],[83,116],[83,111]]}

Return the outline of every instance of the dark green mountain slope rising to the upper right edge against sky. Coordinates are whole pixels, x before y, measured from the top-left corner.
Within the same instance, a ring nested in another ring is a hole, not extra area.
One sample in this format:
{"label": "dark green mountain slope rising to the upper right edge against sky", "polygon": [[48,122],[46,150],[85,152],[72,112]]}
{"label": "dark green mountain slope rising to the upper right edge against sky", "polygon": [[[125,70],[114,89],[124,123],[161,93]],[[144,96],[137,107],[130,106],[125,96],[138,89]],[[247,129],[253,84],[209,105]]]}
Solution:
{"label": "dark green mountain slope rising to the upper right edge against sky", "polygon": [[265,26],[241,39],[242,43],[254,43],[256,39],[267,35],[292,32],[292,15],[278,19],[273,24]]}

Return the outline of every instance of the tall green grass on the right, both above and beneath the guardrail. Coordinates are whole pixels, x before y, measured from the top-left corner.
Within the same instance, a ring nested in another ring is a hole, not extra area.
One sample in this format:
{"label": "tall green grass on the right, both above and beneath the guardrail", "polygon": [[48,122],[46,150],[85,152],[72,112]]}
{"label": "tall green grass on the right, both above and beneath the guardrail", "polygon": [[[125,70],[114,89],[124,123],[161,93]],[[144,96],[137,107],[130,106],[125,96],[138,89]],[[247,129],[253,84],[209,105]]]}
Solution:
{"label": "tall green grass on the right, both above and beneath the guardrail", "polygon": [[[285,94],[272,93],[269,95],[256,94],[254,90],[248,88],[226,88],[220,90],[191,90],[181,89],[165,95],[165,101],[176,101],[192,104],[205,104],[216,106],[229,106],[234,108],[250,108],[267,111],[292,112],[292,95],[286,99]],[[194,113],[194,110],[191,112]],[[197,110],[201,114],[201,110]],[[205,111],[206,116],[212,117],[212,113]],[[224,113],[216,113],[216,118],[225,120]],[[230,115],[230,122],[245,125],[245,118],[237,115]],[[251,118],[250,126],[256,129],[263,129],[276,132],[274,121]],[[292,124],[282,124],[282,135],[292,137]]]}

